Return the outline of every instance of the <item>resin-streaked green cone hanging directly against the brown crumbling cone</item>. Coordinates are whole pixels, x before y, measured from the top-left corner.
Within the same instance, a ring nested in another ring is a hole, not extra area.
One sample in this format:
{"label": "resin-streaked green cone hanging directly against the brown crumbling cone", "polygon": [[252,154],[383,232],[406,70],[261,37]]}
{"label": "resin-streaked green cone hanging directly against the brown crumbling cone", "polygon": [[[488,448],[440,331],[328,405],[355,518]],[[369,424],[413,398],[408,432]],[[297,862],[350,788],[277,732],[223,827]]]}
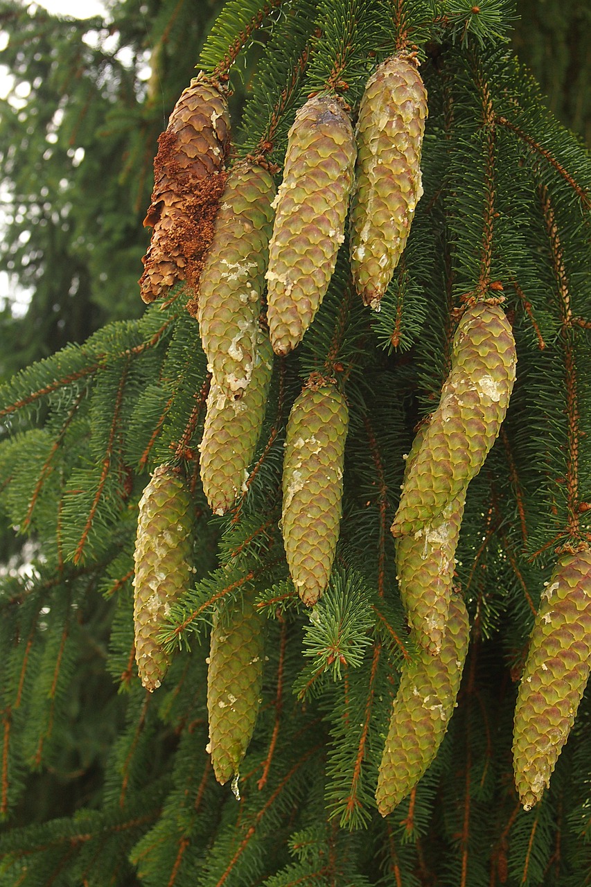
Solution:
{"label": "resin-streaked green cone hanging directly against the brown crumbling cone", "polygon": [[209,370],[229,399],[238,400],[252,376],[274,195],[272,177],[257,163],[241,161],[232,168],[201,272],[201,342]]}

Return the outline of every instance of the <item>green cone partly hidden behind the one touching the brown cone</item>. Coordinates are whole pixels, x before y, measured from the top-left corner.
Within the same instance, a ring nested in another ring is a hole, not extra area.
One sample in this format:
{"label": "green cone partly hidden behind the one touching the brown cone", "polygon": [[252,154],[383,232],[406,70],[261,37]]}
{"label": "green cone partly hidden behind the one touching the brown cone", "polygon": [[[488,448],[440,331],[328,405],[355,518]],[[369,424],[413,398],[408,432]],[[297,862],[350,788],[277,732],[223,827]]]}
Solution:
{"label": "green cone partly hidden behind the one touching the brown cone", "polygon": [[229,399],[211,380],[199,449],[203,491],[214,514],[225,514],[243,491],[261,433],[272,375],[272,348],[261,332],[248,389]]}

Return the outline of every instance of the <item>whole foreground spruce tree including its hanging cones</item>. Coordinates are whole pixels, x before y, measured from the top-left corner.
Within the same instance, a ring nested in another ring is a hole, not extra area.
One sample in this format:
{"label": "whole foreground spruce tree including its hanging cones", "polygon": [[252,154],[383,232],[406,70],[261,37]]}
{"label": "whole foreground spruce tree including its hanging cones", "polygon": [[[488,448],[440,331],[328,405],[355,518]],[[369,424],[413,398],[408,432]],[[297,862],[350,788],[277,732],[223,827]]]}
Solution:
{"label": "whole foreground spruce tree including its hanging cones", "polygon": [[178,59],[158,293],[2,388],[0,883],[591,878],[591,162],[513,20],[228,0]]}

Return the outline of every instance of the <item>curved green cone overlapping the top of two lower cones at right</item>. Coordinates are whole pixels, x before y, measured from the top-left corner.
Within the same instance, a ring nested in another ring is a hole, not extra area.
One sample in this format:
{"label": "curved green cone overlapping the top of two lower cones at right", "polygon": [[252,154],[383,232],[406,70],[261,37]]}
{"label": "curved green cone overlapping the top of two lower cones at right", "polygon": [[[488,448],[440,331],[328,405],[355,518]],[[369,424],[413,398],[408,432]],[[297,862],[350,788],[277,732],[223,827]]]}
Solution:
{"label": "curved green cone overlapping the top of two lower cones at right", "polygon": [[394,536],[432,523],[480,471],[507,412],[516,359],[511,326],[498,305],[478,302],[465,311],[439,405],[408,470]]}

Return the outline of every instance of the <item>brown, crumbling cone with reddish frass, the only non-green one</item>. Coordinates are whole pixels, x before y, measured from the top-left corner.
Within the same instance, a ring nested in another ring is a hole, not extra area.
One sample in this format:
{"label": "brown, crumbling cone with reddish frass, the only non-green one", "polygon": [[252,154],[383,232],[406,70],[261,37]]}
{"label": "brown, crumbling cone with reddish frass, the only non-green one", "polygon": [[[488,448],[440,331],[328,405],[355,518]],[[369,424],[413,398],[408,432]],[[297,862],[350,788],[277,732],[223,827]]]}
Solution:
{"label": "brown, crumbling cone with reddish frass, the only non-green one", "polygon": [[224,187],[230,118],[225,96],[202,75],[183,91],[158,139],[154,191],[144,225],[154,228],[139,279],[144,302],[177,280],[192,286],[209,246]]}

